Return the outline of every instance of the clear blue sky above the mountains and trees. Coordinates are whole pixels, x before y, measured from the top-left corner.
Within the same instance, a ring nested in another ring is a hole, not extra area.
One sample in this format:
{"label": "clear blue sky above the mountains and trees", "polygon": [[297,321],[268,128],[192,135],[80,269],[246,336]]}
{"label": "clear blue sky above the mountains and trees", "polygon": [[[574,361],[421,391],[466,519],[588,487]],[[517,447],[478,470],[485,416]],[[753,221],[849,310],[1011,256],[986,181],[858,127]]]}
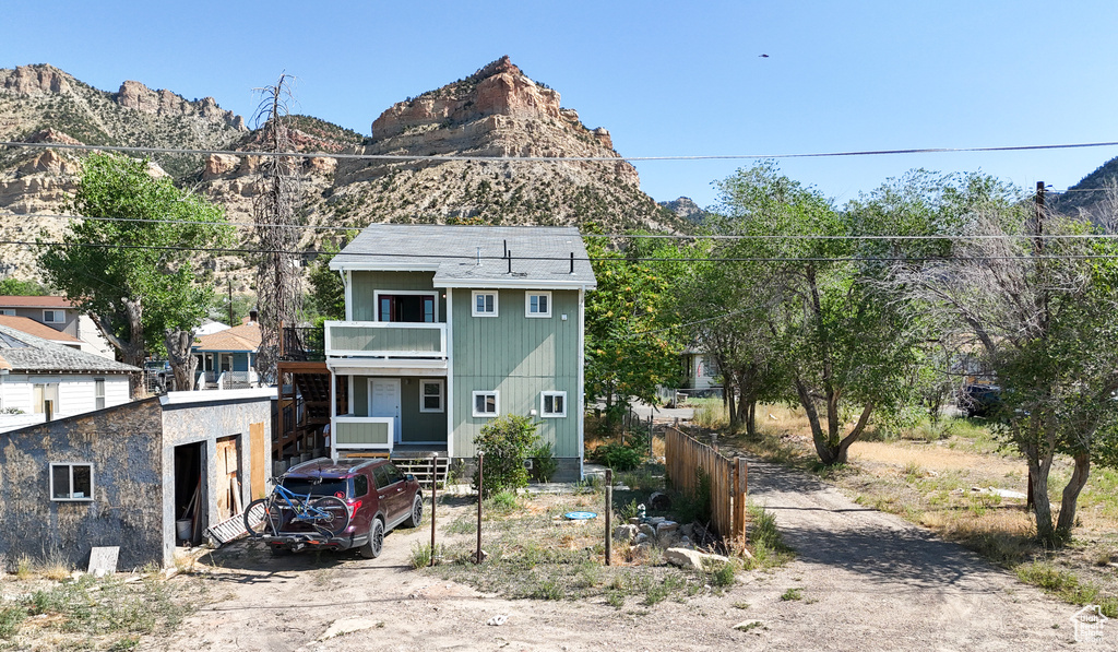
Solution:
{"label": "clear blue sky above the mountains and trees", "polygon": [[[0,67],[49,63],[250,115],[282,70],[297,110],[369,133],[394,102],[502,55],[623,155],[1118,141],[1118,2],[54,2],[7,0]],[[767,54],[768,58],[759,55]],[[1065,188],[1118,148],[781,161],[840,202],[922,167]],[[657,200],[714,201],[741,161],[637,163]]]}

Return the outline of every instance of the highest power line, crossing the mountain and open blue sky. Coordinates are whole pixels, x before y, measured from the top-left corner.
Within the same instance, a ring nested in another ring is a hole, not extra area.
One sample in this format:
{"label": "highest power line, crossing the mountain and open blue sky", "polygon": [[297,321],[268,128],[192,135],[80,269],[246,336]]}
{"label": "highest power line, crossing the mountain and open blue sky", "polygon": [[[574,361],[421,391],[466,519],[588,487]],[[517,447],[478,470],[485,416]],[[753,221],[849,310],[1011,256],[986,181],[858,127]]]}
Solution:
{"label": "highest power line, crossing the mountain and open blue sky", "polygon": [[69,143],[26,143],[17,141],[0,141],[0,147],[37,148],[60,150],[98,150],[125,153],[163,153],[163,154],[227,154],[231,157],[290,157],[301,159],[341,159],[371,161],[479,161],[499,163],[521,162],[617,162],[617,161],[732,161],[732,160],[766,160],[766,159],[818,159],[835,157],[878,157],[896,154],[939,154],[967,152],[1021,152],[1033,150],[1068,150],[1083,148],[1118,147],[1118,141],[1100,141],[1088,143],[1061,143],[1043,145],[1006,145],[992,148],[909,148],[898,150],[860,150],[842,152],[811,152],[790,154],[693,154],[693,155],[657,155],[657,157],[471,157],[461,154],[358,154],[338,152],[255,152],[236,150],[195,150],[183,148],[158,147],[122,147],[122,145],[85,145]]}

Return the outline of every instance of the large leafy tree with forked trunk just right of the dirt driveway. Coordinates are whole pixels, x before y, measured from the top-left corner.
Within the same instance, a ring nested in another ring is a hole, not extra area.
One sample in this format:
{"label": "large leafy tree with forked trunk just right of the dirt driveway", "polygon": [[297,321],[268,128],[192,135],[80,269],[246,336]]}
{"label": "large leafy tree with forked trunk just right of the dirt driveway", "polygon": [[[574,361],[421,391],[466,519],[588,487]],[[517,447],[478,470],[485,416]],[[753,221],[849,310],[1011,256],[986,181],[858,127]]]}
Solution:
{"label": "large leafy tree with forked trunk just right of the dirt driveway", "polygon": [[773,371],[787,378],[784,397],[807,413],[819,460],[844,463],[874,409],[904,400],[913,333],[893,297],[872,283],[879,270],[856,256],[852,214],[773,162],[739,170],[718,188],[723,228],[748,237],[719,247],[714,257],[748,263],[739,266],[740,278],[757,294],[754,319],[768,330],[759,351],[784,358],[786,368]]}

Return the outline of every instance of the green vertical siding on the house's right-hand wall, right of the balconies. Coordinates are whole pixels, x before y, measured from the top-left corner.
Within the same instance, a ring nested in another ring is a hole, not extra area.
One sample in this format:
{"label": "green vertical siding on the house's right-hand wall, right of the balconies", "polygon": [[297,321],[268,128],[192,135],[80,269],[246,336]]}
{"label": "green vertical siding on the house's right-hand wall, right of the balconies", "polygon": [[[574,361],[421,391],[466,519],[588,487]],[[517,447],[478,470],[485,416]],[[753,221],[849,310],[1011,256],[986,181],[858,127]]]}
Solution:
{"label": "green vertical siding on the house's right-hand wall, right of the balconies", "polygon": [[[453,301],[454,450],[474,454],[473,440],[490,419],[472,416],[474,391],[498,390],[501,414],[542,412],[541,391],[566,391],[567,416],[538,418],[537,431],[558,457],[579,457],[578,292],[552,291],[551,318],[524,316],[523,290],[501,290],[498,316],[471,315],[470,290]],[[563,321],[561,315],[567,314]]]}

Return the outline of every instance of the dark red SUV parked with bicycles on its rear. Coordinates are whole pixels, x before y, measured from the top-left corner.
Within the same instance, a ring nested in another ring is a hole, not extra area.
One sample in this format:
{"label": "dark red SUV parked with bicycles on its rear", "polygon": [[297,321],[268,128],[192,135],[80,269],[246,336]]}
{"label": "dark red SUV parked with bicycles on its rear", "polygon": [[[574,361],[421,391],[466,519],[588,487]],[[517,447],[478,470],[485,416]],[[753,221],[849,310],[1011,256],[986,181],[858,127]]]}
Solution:
{"label": "dark red SUV parked with bicycles on its rear", "polygon": [[402,474],[388,460],[320,457],[287,470],[283,486],[300,495],[332,495],[345,502],[349,527],[340,535],[323,537],[311,525],[281,517],[275,531],[259,533],[274,554],[306,548],[348,550],[358,548],[372,559],[380,555],[385,535],[395,527],[419,526],[423,492],[415,475]]}

